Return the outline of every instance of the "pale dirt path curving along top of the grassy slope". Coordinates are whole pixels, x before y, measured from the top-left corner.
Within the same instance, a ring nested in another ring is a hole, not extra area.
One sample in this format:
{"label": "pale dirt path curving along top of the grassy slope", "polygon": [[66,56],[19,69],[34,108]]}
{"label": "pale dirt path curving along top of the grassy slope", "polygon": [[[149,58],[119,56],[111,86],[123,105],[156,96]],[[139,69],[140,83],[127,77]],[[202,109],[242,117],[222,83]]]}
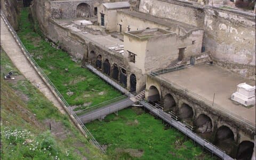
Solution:
{"label": "pale dirt path curving along top of the grassy slope", "polygon": [[39,90],[45,95],[47,99],[53,102],[62,114],[65,111],[62,109],[61,103],[57,100],[55,95],[46,86],[42,78],[38,75],[36,70],[27,60],[25,55],[22,53],[19,45],[13,38],[10,30],[6,27],[2,17],[1,17],[1,46],[3,47],[6,54],[10,57],[13,64],[20,70],[20,72],[33,84],[36,86],[39,84]]}

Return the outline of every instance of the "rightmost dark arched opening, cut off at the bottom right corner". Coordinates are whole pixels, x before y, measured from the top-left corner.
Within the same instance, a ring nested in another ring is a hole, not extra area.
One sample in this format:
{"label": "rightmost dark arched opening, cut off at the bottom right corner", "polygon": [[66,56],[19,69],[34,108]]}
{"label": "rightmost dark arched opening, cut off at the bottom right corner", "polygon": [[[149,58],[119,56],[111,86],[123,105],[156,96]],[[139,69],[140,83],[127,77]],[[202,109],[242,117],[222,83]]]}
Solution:
{"label": "rightmost dark arched opening, cut off at the bottom right corner", "polygon": [[247,160],[252,158],[254,143],[251,141],[242,141],[239,144],[236,159]]}

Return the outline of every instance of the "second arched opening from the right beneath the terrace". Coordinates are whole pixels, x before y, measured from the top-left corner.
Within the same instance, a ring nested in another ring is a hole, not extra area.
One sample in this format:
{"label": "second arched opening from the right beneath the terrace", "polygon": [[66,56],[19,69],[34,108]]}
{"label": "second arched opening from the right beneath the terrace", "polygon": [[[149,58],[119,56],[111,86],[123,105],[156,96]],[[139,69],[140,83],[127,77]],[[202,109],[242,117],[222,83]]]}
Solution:
{"label": "second arched opening from the right beneath the terrace", "polygon": [[231,154],[235,147],[234,133],[229,127],[222,125],[219,127],[215,135],[215,145],[225,150],[227,154]]}

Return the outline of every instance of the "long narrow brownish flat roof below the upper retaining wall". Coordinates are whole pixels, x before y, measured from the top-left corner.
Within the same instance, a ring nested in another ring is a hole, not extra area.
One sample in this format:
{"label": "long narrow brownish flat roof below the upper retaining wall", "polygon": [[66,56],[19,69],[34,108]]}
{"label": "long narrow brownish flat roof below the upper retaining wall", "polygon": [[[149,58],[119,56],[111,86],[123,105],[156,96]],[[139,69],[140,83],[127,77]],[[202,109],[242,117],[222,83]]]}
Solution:
{"label": "long narrow brownish flat roof below the upper retaining wall", "polygon": [[159,25],[166,26],[166,28],[169,28],[169,27],[172,27],[172,26],[179,26],[179,27],[182,27],[183,29],[185,29],[187,32],[189,32],[190,30],[200,29],[200,28],[197,28],[195,26],[188,25],[187,23],[182,23],[182,22],[175,21],[175,20],[172,20],[172,19],[167,19],[167,18],[154,17],[153,15],[143,13],[143,12],[139,12],[139,11],[118,10],[117,12],[121,12],[121,13],[130,15],[132,17],[136,17],[136,18],[143,19],[143,20],[146,20],[146,21],[155,22]]}

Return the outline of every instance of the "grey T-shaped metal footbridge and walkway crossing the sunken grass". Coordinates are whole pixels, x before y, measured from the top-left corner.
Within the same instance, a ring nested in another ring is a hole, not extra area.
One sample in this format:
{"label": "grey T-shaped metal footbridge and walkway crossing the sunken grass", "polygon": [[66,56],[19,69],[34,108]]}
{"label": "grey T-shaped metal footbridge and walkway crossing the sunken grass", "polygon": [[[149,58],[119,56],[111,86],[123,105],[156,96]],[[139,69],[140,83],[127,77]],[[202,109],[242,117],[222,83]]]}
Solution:
{"label": "grey T-shaped metal footbridge and walkway crossing the sunken grass", "polygon": [[138,99],[138,97],[135,97],[129,91],[124,89],[121,85],[114,82],[112,79],[110,79],[108,76],[101,73],[99,70],[95,69],[90,64],[86,64],[85,66],[86,68],[89,68],[91,71],[93,71],[93,73],[97,74],[102,79],[104,79],[106,82],[114,86],[117,90],[121,91],[122,93],[125,93],[127,95],[127,98],[79,116],[82,122],[87,123],[87,122],[93,121],[94,119],[103,118],[104,116],[114,113],[115,111],[132,106],[136,101],[138,101],[143,107],[147,108],[150,111],[150,113],[155,114],[156,116],[162,118],[163,121],[169,123],[171,126],[174,126],[180,132],[184,133],[187,137],[192,139],[194,143],[196,142],[199,145],[201,145],[204,149],[209,150],[210,153],[212,153],[212,155],[215,154],[218,157],[222,159],[227,159],[227,160],[233,159],[229,155],[227,155],[225,151],[219,149],[218,147],[214,146],[212,143],[199,137],[196,133],[188,129],[188,127],[185,124],[179,121],[175,121],[174,120],[175,117],[172,117],[171,115],[165,113],[163,110],[150,105],[150,103],[148,103],[143,99]]}

